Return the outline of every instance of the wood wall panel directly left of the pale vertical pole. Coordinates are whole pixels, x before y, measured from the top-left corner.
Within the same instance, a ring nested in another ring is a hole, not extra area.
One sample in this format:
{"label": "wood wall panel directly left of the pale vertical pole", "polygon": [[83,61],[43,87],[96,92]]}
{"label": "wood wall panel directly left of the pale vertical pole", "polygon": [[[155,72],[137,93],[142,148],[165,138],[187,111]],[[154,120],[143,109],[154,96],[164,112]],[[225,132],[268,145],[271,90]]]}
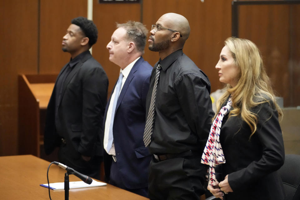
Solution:
{"label": "wood wall panel directly left of the pale vertical pole", "polygon": [[68,63],[70,54],[62,51],[63,36],[73,18],[87,17],[87,9],[83,0],[41,0],[39,73],[57,74]]}

